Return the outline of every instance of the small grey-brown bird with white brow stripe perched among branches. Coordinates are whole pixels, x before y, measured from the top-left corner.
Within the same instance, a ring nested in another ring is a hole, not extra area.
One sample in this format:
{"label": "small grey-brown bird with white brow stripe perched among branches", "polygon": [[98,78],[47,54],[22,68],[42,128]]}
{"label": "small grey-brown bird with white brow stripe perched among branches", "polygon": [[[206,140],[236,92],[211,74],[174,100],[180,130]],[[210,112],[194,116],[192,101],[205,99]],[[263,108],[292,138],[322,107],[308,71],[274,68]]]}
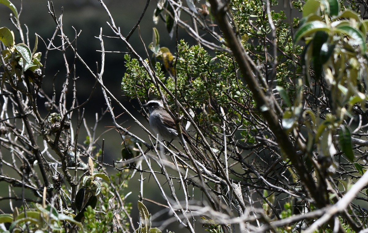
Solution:
{"label": "small grey-brown bird with white brow stripe perched among branches", "polygon": [[[163,140],[168,141],[169,144],[173,140],[179,140],[176,123],[171,115],[165,110],[163,102],[161,100],[150,100],[147,102],[147,104],[143,104],[142,106],[148,108],[149,126],[151,126],[153,132],[155,132],[156,135],[160,135],[160,137]],[[194,146],[183,126],[180,125],[180,127],[184,140],[199,157],[204,159],[204,161],[207,161],[207,159],[198,150],[198,148]]]}

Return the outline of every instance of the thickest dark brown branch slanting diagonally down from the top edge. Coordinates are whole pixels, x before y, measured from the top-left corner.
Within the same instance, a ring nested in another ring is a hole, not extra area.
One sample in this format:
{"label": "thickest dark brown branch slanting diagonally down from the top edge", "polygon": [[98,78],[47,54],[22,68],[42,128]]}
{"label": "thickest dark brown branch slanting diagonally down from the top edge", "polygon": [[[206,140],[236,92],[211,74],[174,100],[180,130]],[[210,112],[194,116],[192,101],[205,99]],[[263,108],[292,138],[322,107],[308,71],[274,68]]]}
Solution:
{"label": "thickest dark brown branch slanting diagonally down from the top edge", "polygon": [[276,104],[274,104],[273,101],[270,101],[274,100],[273,96],[266,95],[267,89],[262,85],[262,77],[259,77],[259,73],[257,73],[256,69],[252,67],[250,62],[251,58],[242,46],[240,39],[237,37],[233,25],[231,25],[233,20],[230,19],[227,14],[227,5],[222,4],[219,0],[209,0],[209,3],[211,4],[211,9],[217,20],[217,24],[223,32],[226,42],[239,65],[243,79],[245,83],[248,84],[248,88],[254,94],[254,99],[258,109],[268,122],[269,128],[274,133],[283,154],[285,154],[296,167],[298,175],[307,187],[308,191],[311,193],[311,196],[316,200],[317,206],[324,206],[325,201],[323,195],[319,193],[312,176],[305,168],[302,159],[297,155],[297,150],[290,140],[289,135],[280,125],[280,119],[274,109]]}

